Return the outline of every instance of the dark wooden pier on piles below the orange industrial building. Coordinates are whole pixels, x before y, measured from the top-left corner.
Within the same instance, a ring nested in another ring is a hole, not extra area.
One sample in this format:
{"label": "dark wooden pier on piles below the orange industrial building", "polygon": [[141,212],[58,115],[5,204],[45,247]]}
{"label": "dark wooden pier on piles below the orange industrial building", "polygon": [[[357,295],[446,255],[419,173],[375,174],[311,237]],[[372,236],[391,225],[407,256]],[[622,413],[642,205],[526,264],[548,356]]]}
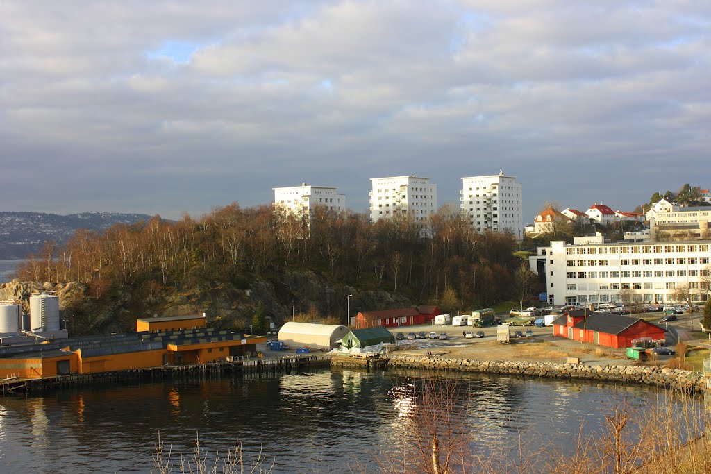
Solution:
{"label": "dark wooden pier on piles below the orange industrial building", "polygon": [[225,374],[259,372],[279,373],[304,370],[311,367],[329,367],[330,355],[299,355],[275,359],[245,359],[230,362],[211,362],[196,365],[164,365],[144,369],[98,372],[95,374],[60,375],[40,379],[2,379],[2,396],[44,394],[55,389],[85,387],[107,382],[154,382],[162,379],[201,377],[209,379]]}

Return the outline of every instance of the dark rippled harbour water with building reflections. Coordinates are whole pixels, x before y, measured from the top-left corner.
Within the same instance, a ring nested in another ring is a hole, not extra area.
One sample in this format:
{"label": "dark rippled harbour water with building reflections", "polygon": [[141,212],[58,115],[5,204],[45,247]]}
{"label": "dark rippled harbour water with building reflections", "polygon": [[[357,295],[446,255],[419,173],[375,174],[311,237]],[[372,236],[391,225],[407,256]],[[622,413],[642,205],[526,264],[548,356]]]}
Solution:
{"label": "dark rippled harbour water with building reflections", "polygon": [[[412,423],[412,384],[420,372],[333,370],[245,375],[212,381],[165,382],[0,399],[1,473],[149,472],[156,433],[173,453],[188,453],[196,431],[208,451],[235,439],[248,456],[260,443],[277,473],[376,470],[373,456],[402,443]],[[604,406],[657,397],[639,387],[463,377],[459,406],[471,449],[486,453],[523,437],[571,451],[582,421],[594,429]]]}

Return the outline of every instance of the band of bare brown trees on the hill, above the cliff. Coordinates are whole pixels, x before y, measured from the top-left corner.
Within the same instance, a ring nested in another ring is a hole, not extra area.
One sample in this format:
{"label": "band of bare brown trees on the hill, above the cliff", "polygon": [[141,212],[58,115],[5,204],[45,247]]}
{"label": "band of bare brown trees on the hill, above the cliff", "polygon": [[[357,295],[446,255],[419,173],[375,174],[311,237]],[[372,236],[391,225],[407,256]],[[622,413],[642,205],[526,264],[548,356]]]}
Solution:
{"label": "band of bare brown trees on the hill, above the cliff", "polygon": [[431,237],[421,237],[417,224],[407,215],[370,224],[365,215],[326,208],[299,219],[271,206],[232,203],[199,220],[185,216],[167,223],[156,216],[103,232],[80,230],[64,246],[50,242],[30,256],[18,277],[80,281],[96,298],[146,285],[186,290],[230,283],[248,289],[252,279],[276,279],[296,268],[423,303],[437,303],[445,289],[450,296],[453,290],[463,307],[492,306],[512,296],[518,301],[535,291],[530,275],[515,282],[521,262],[513,257],[511,235],[479,235],[447,207],[427,222]]}

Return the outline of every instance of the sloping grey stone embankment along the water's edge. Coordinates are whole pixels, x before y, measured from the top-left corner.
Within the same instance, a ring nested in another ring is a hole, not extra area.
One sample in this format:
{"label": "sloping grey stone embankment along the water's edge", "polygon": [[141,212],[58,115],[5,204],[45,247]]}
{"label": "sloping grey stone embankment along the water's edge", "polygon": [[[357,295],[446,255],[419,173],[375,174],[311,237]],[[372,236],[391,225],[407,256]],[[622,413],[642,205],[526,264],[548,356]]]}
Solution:
{"label": "sloping grey stone embankment along the water's edge", "polygon": [[508,360],[447,359],[412,355],[390,356],[389,367],[453,370],[476,374],[524,375],[554,379],[582,379],[651,385],[688,392],[705,392],[699,372],[643,365],[586,365]]}

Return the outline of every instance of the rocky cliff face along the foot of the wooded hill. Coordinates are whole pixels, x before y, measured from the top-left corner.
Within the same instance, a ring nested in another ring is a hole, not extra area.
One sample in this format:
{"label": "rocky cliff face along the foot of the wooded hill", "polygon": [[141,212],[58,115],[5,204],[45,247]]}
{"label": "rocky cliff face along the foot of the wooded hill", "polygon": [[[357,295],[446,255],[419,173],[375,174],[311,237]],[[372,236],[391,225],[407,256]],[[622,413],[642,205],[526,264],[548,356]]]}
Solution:
{"label": "rocky cliff face along the foot of the wooded hill", "polygon": [[314,319],[331,316],[346,323],[347,298],[351,317],[358,311],[412,306],[405,296],[387,291],[358,292],[352,286],[332,284],[314,272],[300,269],[282,274],[279,281],[255,280],[241,289],[216,284],[211,288],[166,289],[137,296],[119,290],[93,298],[87,285],[71,282],[51,284],[18,280],[0,284],[0,300],[21,300],[28,310],[33,292],[56,291],[60,296],[60,318],[69,321],[70,332],[121,333],[135,330],[136,318],[202,314],[215,328],[247,328],[261,302],[267,316],[277,325],[290,321],[293,313],[313,314]]}

